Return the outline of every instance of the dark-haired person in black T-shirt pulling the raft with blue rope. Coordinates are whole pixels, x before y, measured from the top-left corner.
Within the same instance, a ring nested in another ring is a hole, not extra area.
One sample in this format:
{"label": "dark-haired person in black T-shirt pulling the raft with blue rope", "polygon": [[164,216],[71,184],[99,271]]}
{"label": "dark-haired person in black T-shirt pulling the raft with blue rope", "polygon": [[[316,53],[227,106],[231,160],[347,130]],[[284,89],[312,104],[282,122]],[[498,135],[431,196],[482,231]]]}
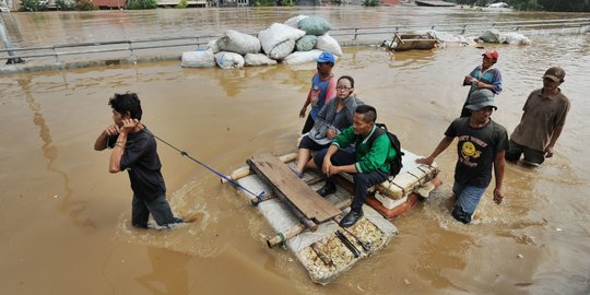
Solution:
{"label": "dark-haired person in black T-shirt pulling the raft with blue rope", "polygon": [[166,200],[166,186],[162,177],[154,135],[140,121],[141,103],[135,93],[115,94],[108,104],[113,107],[114,125],[98,135],[94,150],[113,149],[108,170],[128,172],[133,201],[131,224],[148,228],[150,213],[157,225],[168,227],[184,222],[175,217]]}

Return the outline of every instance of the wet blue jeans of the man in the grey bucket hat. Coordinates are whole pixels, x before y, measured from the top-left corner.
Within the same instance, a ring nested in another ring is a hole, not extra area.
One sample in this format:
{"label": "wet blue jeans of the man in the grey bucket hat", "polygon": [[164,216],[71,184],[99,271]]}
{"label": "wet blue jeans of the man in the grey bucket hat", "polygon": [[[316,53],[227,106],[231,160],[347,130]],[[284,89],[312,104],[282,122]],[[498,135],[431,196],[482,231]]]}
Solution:
{"label": "wet blue jeans of the man in the grey bucket hat", "polygon": [[457,201],[455,201],[452,216],[462,223],[470,223],[471,215],[475,212],[485,189],[455,181],[452,192],[457,196]]}

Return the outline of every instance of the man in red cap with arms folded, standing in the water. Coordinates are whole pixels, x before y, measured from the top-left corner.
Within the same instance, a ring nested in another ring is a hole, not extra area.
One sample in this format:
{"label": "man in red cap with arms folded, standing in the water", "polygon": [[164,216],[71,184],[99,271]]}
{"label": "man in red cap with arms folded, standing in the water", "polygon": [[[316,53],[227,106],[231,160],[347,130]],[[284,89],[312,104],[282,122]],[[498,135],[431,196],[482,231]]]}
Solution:
{"label": "man in red cap with arms folded, standing in the water", "polygon": [[486,88],[491,90],[494,94],[500,94],[502,92],[502,74],[498,69],[494,68],[494,64],[498,61],[497,51],[487,51],[482,55],[483,61],[481,66],[475,67],[473,71],[465,75],[463,80],[463,86],[471,86],[468,93],[468,98],[463,104],[463,109],[461,110],[461,117],[471,116],[471,111],[465,108],[469,104],[469,97],[472,92]]}

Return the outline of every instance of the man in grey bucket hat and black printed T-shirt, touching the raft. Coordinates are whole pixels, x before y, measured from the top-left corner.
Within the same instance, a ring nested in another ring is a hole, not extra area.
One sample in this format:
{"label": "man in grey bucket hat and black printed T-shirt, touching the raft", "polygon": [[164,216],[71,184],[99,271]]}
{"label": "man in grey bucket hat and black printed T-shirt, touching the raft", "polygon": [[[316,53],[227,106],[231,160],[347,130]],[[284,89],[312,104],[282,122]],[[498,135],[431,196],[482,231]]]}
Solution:
{"label": "man in grey bucket hat and black printed T-shirt, touching the raft", "polygon": [[432,165],[435,157],[444,152],[455,138],[458,139],[458,161],[452,186],[457,200],[452,216],[467,224],[471,222],[471,215],[492,181],[492,166],[496,178],[494,202],[500,204],[504,199],[502,182],[508,133],[502,125],[491,118],[494,109],[497,109],[492,91],[474,91],[465,108],[471,111],[471,116],[455,119],[435,151],[428,157],[416,160],[416,163]]}

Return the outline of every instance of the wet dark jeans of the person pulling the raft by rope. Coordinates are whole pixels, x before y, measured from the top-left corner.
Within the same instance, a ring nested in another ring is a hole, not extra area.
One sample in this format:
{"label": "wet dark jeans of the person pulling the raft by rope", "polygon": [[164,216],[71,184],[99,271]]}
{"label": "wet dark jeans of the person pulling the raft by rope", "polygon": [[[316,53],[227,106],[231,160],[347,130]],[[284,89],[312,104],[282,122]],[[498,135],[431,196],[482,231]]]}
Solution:
{"label": "wet dark jeans of the person pulling the raft by rope", "polygon": [[172,213],[166,194],[162,194],[154,200],[140,199],[133,194],[133,201],[131,202],[131,224],[135,227],[146,228],[150,213],[152,213],[152,217],[160,226],[166,226],[181,221]]}

